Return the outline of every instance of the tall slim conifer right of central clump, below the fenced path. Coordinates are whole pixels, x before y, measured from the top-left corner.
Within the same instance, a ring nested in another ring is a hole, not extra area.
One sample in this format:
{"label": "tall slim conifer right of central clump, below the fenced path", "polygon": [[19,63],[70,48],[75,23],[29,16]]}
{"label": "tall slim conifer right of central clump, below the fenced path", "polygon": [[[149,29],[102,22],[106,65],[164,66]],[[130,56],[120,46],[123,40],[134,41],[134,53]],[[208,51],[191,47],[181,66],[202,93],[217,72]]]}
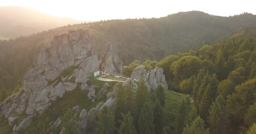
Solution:
{"label": "tall slim conifer right of central clump, below the fenced path", "polygon": [[189,97],[184,98],[178,108],[178,115],[176,116],[176,134],[181,134],[184,127],[186,126],[187,115],[190,110],[190,99]]}

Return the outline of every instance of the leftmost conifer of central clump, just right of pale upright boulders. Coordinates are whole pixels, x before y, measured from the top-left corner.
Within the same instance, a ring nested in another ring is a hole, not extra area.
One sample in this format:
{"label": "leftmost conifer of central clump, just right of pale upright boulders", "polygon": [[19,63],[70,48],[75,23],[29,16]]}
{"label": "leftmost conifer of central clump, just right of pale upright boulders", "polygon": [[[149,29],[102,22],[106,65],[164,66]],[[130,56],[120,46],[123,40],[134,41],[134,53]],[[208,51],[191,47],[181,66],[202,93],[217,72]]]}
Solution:
{"label": "leftmost conifer of central clump, just right of pale upright boulders", "polygon": [[115,118],[111,108],[104,106],[98,113],[98,134],[113,134],[115,131]]}

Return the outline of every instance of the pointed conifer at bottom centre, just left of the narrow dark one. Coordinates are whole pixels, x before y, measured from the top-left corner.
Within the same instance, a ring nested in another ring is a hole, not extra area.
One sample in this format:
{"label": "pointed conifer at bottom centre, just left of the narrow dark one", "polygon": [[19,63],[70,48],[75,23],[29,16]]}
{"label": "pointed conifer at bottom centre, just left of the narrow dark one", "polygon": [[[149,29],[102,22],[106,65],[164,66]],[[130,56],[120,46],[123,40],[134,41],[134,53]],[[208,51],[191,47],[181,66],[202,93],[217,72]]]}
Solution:
{"label": "pointed conifer at bottom centre, just left of the narrow dark one", "polygon": [[154,113],[149,105],[146,102],[139,113],[139,120],[138,120],[138,130],[139,134],[155,134],[155,124],[154,121]]}

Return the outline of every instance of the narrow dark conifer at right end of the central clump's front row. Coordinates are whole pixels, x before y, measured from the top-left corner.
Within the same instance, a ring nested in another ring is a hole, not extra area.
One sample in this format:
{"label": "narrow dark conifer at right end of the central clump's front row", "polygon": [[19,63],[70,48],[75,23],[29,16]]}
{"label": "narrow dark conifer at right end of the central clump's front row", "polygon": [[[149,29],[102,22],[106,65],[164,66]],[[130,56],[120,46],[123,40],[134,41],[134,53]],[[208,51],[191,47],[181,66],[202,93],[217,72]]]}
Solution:
{"label": "narrow dark conifer at right end of the central clump's front row", "polygon": [[154,106],[154,122],[155,124],[155,133],[156,134],[163,134],[163,127],[165,125],[164,121],[164,112],[161,104],[159,101],[155,102]]}

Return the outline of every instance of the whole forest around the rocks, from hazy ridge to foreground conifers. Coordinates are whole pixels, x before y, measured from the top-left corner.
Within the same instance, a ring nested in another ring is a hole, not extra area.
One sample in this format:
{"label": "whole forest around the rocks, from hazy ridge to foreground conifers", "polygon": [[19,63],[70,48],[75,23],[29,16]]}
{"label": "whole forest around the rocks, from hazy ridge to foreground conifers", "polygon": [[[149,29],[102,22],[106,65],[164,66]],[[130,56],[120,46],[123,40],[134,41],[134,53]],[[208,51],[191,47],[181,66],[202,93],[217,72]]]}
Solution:
{"label": "whole forest around the rocks, from hazy ridge to foreground conifers", "polygon": [[[191,20],[180,23],[179,18]],[[139,65],[147,70],[163,68],[168,90],[186,96],[169,109],[161,86],[148,92],[140,80],[134,93],[130,86],[117,83],[115,106],[103,107],[97,121],[88,124],[89,130],[96,127],[98,134],[256,134],[256,27],[251,26],[255,20],[249,13],[222,18],[193,11],[159,19],[83,23],[2,40],[0,101],[20,90],[32,55],[48,46],[55,33],[88,28],[99,55],[104,42],[117,44],[126,65],[124,75],[130,76]],[[61,125],[67,134],[77,134],[78,121],[73,115],[70,109],[63,112]],[[33,125],[43,128],[41,124],[48,122]]]}

